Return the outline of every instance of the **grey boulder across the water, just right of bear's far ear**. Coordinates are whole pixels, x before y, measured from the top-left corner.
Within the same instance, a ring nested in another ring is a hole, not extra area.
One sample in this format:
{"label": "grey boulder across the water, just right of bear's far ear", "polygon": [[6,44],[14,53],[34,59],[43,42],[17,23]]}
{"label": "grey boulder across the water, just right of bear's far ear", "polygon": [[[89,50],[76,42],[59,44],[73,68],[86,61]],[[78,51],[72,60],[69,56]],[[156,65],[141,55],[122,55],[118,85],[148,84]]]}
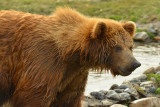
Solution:
{"label": "grey boulder across the water, just right of bear's far ear", "polygon": [[134,36],[134,40],[135,41],[142,41],[142,42],[146,42],[150,39],[150,37],[148,36],[148,34],[146,32],[138,32],[136,33],[136,35]]}

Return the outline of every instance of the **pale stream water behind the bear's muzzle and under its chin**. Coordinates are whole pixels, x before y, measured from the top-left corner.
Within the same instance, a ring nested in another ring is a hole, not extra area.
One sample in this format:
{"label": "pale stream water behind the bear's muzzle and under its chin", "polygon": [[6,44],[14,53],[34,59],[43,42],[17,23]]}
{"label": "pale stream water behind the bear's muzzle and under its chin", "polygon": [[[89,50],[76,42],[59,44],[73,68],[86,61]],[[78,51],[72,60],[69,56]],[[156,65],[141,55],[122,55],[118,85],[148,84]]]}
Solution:
{"label": "pale stream water behind the bear's muzzle and under its chin", "polygon": [[90,71],[85,95],[92,91],[108,90],[113,84],[121,84],[125,80],[130,80],[141,75],[144,70],[156,67],[160,64],[160,44],[137,44],[133,51],[136,59],[141,62],[141,67],[137,68],[131,75],[123,77],[113,77],[110,73],[97,74]]}

